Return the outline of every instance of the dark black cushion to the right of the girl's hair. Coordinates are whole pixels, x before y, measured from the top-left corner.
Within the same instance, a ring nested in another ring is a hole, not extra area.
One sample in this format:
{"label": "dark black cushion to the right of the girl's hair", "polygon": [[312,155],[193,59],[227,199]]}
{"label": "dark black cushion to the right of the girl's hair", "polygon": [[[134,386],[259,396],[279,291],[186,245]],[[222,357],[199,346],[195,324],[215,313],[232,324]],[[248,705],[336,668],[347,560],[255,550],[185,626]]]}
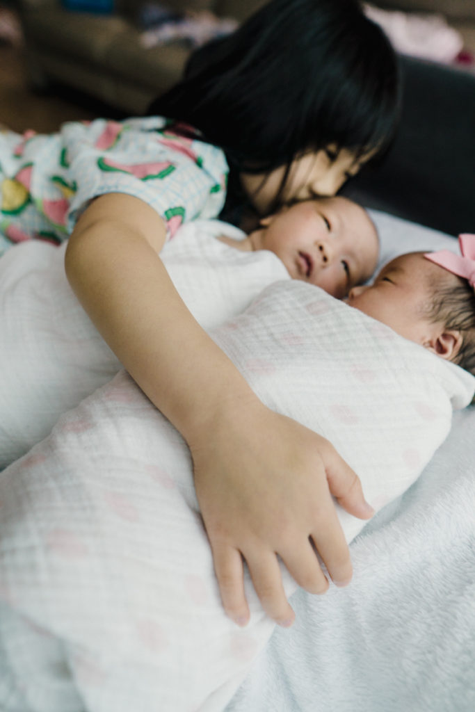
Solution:
{"label": "dark black cushion to the right of the girl's hair", "polygon": [[401,63],[395,142],[343,193],[449,234],[475,232],[475,75],[407,57]]}

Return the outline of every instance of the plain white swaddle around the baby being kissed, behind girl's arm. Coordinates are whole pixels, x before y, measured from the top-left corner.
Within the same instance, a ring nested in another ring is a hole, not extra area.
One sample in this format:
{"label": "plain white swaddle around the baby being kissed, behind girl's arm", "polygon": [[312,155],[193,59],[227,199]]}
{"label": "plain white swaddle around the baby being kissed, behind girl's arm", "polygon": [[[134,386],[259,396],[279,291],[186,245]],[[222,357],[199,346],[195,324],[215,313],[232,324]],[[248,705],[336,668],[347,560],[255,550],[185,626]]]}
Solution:
{"label": "plain white swaddle around the baby being kissed, behind girl's arm", "polygon": [[[217,240],[219,234],[244,235],[217,220],[197,220],[162,251],[174,285],[205,329],[240,313],[266,284],[288,278],[273,253],[238,251]],[[0,469],[121,367],[68,284],[65,251],[66,243],[31,241],[0,259]]]}

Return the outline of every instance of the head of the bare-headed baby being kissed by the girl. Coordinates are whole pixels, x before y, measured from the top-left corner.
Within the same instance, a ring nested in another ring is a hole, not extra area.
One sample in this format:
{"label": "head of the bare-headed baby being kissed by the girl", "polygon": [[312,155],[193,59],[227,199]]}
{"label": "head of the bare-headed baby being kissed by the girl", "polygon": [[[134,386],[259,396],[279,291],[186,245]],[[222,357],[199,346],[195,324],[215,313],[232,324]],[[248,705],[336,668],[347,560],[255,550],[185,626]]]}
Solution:
{"label": "head of the bare-headed baby being kissed by the girl", "polygon": [[337,298],[365,282],[377,264],[378,240],[366,211],[346,198],[296,203],[263,219],[249,236],[255,250],[270,250],[293,279]]}

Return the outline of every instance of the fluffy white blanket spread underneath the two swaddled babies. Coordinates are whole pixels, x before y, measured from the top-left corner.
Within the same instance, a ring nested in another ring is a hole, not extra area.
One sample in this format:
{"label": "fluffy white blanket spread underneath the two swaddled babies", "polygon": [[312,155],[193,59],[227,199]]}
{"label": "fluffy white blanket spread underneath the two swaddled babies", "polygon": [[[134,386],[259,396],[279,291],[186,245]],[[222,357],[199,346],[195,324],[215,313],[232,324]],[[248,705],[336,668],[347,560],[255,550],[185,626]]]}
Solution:
{"label": "fluffy white blanket spread underneath the two swaddled babies", "polygon": [[[373,213],[382,262],[453,248],[436,231]],[[351,545],[355,575],[315,602],[291,598],[226,712],[473,712],[475,406],[417,482]]]}

